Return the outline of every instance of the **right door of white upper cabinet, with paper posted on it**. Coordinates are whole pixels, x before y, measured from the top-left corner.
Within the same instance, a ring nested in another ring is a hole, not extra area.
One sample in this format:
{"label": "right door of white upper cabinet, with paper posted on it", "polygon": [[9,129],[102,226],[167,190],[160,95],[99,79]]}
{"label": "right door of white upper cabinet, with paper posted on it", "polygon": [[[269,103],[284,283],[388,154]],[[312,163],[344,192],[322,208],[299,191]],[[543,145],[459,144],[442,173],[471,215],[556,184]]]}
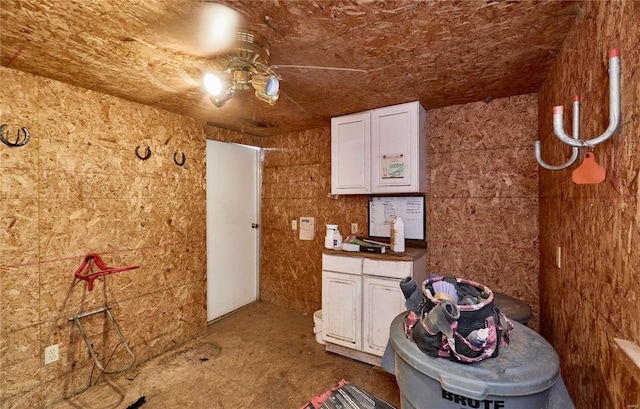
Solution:
{"label": "right door of white upper cabinet, with paper posted on it", "polygon": [[426,191],[426,113],[419,102],[371,111],[371,192]]}

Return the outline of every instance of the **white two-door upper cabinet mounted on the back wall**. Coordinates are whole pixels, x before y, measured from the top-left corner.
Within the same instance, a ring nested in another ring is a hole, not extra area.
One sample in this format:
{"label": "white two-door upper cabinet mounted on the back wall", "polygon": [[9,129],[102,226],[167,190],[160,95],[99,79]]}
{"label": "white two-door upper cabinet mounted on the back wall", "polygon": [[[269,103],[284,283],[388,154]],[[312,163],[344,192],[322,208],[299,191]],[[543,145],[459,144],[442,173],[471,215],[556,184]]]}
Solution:
{"label": "white two-door upper cabinet mounted on the back wall", "polygon": [[419,102],[331,119],[331,193],[424,193],[426,112]]}

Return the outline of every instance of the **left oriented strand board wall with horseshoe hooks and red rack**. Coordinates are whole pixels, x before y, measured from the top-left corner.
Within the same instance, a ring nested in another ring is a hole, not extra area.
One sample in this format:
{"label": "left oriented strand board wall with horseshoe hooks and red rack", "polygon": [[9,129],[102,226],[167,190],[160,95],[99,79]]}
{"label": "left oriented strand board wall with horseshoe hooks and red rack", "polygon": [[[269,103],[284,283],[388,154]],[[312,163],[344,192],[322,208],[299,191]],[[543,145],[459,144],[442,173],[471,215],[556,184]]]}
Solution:
{"label": "left oriented strand board wall with horseshoe hooks and red rack", "polygon": [[[0,68],[0,401],[46,407],[91,382],[92,360],[68,317],[111,306],[137,362],[201,334],[205,310],[203,125],[110,96]],[[151,147],[138,159],[134,148]],[[183,167],[173,161],[184,153]],[[87,291],[73,273],[95,252],[114,267]],[[116,335],[83,320],[106,362]],[[43,365],[46,346],[60,361]],[[109,368],[126,362],[119,347]],[[97,370],[93,373],[96,379]]]}

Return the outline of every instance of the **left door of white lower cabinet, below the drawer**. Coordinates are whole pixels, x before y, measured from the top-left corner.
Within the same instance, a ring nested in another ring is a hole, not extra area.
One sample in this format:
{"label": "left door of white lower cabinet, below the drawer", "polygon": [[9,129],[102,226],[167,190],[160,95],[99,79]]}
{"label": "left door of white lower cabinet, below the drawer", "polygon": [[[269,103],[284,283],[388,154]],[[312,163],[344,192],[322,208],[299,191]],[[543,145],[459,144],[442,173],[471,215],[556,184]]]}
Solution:
{"label": "left door of white lower cabinet, below the drawer", "polygon": [[362,276],[322,272],[322,339],[362,348]]}

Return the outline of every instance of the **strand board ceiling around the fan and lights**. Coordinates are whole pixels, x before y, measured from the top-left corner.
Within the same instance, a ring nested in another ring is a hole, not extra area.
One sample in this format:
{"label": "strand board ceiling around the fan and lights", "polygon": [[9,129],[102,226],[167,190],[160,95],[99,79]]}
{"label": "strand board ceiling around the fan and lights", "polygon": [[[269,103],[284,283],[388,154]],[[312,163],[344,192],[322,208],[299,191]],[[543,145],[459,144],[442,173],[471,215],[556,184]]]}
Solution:
{"label": "strand board ceiling around the fan and lights", "polygon": [[[221,50],[204,49],[198,32],[218,3],[268,40],[271,66],[364,72],[277,68],[275,106],[239,91],[217,108],[202,75],[221,69]],[[579,1],[0,0],[0,61],[269,136],[408,101],[433,109],[536,92],[579,9]]]}

